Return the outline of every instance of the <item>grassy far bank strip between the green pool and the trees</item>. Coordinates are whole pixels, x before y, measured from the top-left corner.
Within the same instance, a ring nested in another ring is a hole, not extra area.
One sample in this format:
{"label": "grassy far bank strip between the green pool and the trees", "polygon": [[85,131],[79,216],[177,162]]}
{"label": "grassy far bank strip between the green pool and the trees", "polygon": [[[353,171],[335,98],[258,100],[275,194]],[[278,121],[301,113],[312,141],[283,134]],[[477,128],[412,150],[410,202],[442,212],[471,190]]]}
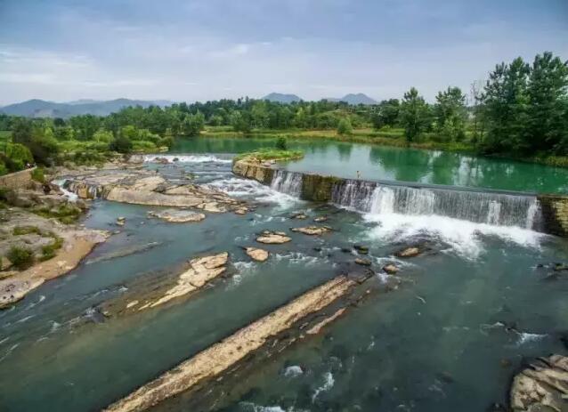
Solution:
{"label": "grassy far bank strip between the green pool and the trees", "polygon": [[278,139],[280,137],[298,141],[343,141],[351,143],[366,143],[377,146],[390,146],[394,148],[410,148],[425,150],[442,150],[455,153],[481,156],[484,158],[502,158],[515,160],[523,163],[536,163],[545,166],[568,168],[568,157],[551,156],[540,154],[534,157],[519,157],[507,154],[484,155],[480,153],[475,145],[470,142],[442,142],[442,141],[406,141],[402,129],[392,129],[388,131],[376,131],[369,128],[353,129],[349,135],[338,134],[336,130],[253,130],[251,133],[244,134],[234,132],[223,127],[207,126],[199,135],[207,138],[254,138],[254,139]]}

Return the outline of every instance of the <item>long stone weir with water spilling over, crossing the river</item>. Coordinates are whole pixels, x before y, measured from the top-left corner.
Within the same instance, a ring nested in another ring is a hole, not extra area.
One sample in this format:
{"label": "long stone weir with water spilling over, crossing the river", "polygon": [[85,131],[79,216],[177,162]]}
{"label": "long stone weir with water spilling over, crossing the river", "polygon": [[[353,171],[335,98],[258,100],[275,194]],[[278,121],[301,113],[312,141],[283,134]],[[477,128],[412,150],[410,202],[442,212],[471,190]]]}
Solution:
{"label": "long stone weir with water spilling over, crossing the river", "polygon": [[568,236],[568,198],[414,182],[344,179],[288,172],[240,160],[233,172],[304,200],[370,214],[441,215]]}

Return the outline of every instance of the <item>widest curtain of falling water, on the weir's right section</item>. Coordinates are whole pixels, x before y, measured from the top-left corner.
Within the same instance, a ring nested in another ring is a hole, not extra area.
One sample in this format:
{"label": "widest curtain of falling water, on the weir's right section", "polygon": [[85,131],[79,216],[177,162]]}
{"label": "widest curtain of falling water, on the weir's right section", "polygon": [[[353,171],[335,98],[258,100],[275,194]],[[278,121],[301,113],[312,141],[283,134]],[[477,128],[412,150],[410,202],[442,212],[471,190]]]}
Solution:
{"label": "widest curtain of falling water, on the weir's right section", "polygon": [[371,214],[437,214],[541,230],[540,205],[532,195],[345,180],[335,185],[332,201]]}

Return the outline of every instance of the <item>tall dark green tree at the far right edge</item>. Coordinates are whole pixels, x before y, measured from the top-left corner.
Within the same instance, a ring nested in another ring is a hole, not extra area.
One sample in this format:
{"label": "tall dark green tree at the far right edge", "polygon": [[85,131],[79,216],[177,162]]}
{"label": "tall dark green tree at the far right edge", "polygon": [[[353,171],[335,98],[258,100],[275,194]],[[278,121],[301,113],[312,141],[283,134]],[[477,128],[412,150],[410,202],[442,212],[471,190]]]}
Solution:
{"label": "tall dark green tree at the far right edge", "polygon": [[525,131],[529,149],[561,149],[568,136],[568,62],[552,53],[537,54],[528,78]]}

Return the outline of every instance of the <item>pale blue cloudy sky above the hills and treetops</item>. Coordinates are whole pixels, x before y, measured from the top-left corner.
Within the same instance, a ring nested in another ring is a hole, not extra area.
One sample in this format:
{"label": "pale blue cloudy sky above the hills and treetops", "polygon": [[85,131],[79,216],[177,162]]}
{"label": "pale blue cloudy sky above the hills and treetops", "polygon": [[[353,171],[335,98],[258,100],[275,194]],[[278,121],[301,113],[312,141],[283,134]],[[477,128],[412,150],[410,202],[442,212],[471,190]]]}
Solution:
{"label": "pale blue cloudy sky above the hills and treetops", "polygon": [[568,60],[568,0],[0,0],[0,105],[468,91]]}

